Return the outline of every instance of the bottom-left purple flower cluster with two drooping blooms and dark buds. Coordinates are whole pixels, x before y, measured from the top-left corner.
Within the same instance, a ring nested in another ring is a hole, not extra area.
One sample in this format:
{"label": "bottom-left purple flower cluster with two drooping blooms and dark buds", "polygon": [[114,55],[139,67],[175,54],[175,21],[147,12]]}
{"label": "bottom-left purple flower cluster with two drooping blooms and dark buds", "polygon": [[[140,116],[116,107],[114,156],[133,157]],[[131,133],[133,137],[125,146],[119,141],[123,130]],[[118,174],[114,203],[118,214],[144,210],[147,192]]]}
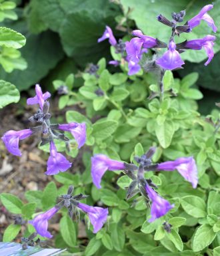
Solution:
{"label": "bottom-left purple flower cluster with two drooping blooms and dark buds", "polygon": [[85,199],[87,196],[79,194],[72,196],[73,186],[69,186],[67,195],[61,195],[61,201],[55,205],[55,207],[49,209],[45,213],[41,213],[35,217],[32,221],[29,221],[33,227],[35,227],[37,233],[42,237],[51,238],[53,235],[49,233],[48,221],[55,215],[62,207],[66,207],[69,211],[69,216],[72,218],[73,214],[77,215],[77,208],[81,209],[84,213],[87,213],[91,224],[93,225],[93,233],[97,233],[107,221],[108,209],[101,207],[91,207],[83,203],[79,203],[80,200]]}

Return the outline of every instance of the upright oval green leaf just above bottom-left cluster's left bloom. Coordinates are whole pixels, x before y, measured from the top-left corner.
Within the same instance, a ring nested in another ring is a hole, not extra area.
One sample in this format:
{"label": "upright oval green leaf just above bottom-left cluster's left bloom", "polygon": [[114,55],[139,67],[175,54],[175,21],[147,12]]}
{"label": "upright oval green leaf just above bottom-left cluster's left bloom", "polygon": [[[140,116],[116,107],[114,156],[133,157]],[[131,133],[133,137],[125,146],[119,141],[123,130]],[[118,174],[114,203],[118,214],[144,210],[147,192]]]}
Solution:
{"label": "upright oval green leaf just above bottom-left cluster's left bloom", "polygon": [[42,205],[43,210],[54,207],[57,201],[57,186],[53,181],[49,182],[43,190]]}

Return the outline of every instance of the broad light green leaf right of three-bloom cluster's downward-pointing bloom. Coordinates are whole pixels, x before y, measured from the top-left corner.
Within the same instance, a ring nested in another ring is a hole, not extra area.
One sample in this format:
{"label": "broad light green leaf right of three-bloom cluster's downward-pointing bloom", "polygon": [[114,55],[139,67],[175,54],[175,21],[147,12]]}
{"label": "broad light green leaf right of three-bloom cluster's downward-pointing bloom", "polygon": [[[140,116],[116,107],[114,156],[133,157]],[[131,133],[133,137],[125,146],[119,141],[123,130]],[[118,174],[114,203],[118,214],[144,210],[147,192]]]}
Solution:
{"label": "broad light green leaf right of three-bloom cluster's downward-pointing bloom", "polygon": [[186,196],[181,198],[181,205],[186,213],[195,217],[206,217],[205,201],[197,196]]}

